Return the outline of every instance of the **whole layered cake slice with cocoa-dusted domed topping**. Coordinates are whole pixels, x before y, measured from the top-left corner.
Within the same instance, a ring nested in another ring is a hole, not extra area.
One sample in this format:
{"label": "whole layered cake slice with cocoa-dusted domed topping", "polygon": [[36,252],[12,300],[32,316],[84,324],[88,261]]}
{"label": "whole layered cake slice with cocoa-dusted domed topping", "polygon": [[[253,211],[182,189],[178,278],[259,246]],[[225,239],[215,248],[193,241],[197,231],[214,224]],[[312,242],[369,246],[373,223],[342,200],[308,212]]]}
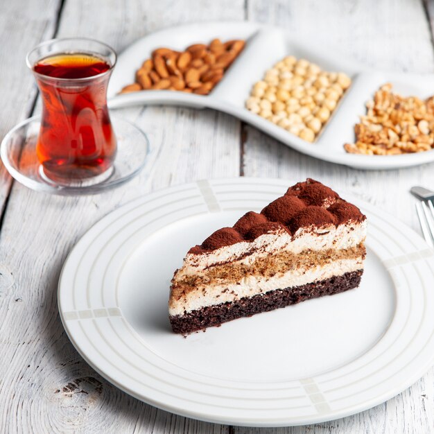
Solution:
{"label": "whole layered cake slice with cocoa-dusted domed topping", "polygon": [[260,214],[250,211],[186,254],[172,279],[175,333],[356,288],[366,217],[320,182],[290,187]]}

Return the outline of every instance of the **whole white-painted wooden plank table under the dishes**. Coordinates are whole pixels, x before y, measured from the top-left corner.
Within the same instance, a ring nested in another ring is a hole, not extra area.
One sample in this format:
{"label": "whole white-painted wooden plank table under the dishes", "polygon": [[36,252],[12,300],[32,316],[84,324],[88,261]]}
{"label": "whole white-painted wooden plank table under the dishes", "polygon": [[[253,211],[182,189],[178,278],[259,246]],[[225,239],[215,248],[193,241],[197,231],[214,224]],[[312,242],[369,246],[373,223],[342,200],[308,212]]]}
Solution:
{"label": "whole white-painted wooden plank table under the dishes", "polygon": [[[434,6],[422,0],[14,0],[0,2],[0,137],[38,110],[26,52],[51,37],[85,36],[121,51],[141,35],[189,21],[248,19],[318,37],[379,69],[434,71]],[[205,177],[313,177],[419,230],[410,186],[434,186],[434,164],[356,171],[306,157],[211,110],[122,110],[158,152],[150,173],[100,196],[46,196],[0,166],[0,433],[429,433],[434,370],[361,414],[295,428],[198,422],[129,397],[78,355],[57,306],[62,263],[102,216],[148,191]],[[434,286],[434,284],[433,284]]]}

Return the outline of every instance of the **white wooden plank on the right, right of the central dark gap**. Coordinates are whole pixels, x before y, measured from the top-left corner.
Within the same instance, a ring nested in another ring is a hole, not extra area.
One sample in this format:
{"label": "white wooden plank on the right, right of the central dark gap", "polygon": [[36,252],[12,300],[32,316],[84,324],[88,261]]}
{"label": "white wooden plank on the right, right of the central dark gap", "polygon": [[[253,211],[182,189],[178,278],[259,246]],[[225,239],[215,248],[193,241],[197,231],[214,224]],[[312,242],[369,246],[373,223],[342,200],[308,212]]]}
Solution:
{"label": "white wooden plank on the right, right of the central dark gap", "polygon": [[[283,26],[300,40],[315,40],[324,50],[336,47],[342,55],[378,69],[433,71],[431,33],[419,1],[249,0],[248,19]],[[409,34],[411,44],[407,40]],[[416,184],[434,185],[433,164],[406,170],[358,171],[297,153],[250,126],[245,126],[244,134],[242,164],[246,176],[291,180],[313,177],[338,191],[350,191],[419,230],[415,200],[408,190]],[[430,370],[394,399],[359,415],[309,427],[235,428],[234,432],[306,433],[306,429],[315,434],[433,432],[433,405],[427,398],[433,391],[433,372]]]}

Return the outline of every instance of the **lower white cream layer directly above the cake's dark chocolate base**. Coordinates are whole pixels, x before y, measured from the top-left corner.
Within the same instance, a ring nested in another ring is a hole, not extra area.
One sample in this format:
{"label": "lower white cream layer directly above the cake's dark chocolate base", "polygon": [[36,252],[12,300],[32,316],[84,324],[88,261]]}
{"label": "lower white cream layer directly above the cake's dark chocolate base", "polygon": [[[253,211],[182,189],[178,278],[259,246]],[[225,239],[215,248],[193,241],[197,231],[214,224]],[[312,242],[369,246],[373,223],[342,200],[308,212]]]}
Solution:
{"label": "lower white cream layer directly above the cake's dark chocolate base", "polygon": [[200,286],[186,291],[179,300],[171,297],[169,315],[184,315],[205,306],[214,306],[225,302],[234,302],[243,297],[252,297],[270,290],[302,286],[315,281],[329,279],[333,276],[344,275],[346,272],[362,270],[363,259],[340,259],[325,266],[296,268],[273,277],[248,276],[238,283]]}

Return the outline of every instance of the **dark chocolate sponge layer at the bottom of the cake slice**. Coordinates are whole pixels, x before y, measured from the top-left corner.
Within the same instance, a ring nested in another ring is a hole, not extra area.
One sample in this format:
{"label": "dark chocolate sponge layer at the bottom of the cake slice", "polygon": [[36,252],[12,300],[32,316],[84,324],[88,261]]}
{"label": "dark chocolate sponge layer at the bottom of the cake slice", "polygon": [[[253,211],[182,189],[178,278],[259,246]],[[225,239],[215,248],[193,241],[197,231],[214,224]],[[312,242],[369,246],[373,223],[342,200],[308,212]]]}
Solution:
{"label": "dark chocolate sponge layer at the bottom of the cake slice", "polygon": [[293,288],[270,290],[268,293],[244,297],[236,302],[207,306],[184,315],[169,317],[175,333],[191,333],[206,327],[219,326],[223,322],[235,320],[256,313],[268,312],[281,307],[297,304],[323,295],[333,295],[356,288],[360,284],[363,270],[347,272],[341,276],[313,282]]}

